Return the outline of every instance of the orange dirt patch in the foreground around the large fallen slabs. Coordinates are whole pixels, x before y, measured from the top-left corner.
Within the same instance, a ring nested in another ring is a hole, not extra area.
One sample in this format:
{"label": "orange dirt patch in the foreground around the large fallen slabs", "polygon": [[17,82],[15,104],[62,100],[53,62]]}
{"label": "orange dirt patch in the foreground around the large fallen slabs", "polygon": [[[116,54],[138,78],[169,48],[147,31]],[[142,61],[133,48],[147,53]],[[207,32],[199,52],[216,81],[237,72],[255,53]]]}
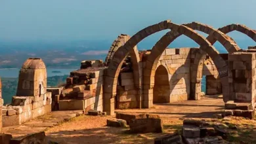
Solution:
{"label": "orange dirt patch in the foreground around the large fallen slabs", "polygon": [[92,117],[83,115],[65,122],[60,126],[49,128],[47,137],[59,143],[154,143],[154,138],[173,133],[181,128],[179,118],[163,118],[163,134],[127,134],[125,128],[110,128],[106,119],[113,117]]}

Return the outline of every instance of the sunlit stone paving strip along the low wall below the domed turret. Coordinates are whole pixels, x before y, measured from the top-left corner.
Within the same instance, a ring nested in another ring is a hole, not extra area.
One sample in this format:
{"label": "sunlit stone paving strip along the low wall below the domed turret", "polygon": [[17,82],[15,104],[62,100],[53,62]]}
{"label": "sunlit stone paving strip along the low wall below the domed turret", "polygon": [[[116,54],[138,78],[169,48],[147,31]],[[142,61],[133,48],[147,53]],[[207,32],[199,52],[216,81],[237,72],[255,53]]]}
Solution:
{"label": "sunlit stone paving strip along the low wall below the domed turret", "polygon": [[11,134],[12,137],[22,137],[28,134],[45,131],[47,128],[57,126],[61,122],[82,115],[83,111],[53,111],[47,115],[37,117],[19,126],[3,128],[3,133]]}

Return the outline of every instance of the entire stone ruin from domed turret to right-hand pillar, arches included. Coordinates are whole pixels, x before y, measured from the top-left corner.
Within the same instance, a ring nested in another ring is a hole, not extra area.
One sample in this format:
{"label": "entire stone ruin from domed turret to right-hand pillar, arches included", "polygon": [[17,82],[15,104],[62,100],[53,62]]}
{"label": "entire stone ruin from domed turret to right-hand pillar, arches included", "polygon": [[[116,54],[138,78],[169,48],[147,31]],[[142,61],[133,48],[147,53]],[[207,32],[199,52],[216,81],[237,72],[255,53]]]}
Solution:
{"label": "entire stone ruin from domed turret to right-hand pillar, arches included", "polygon": [[[137,50],[140,41],[165,29],[171,31],[152,49]],[[208,37],[196,31],[207,33]],[[3,126],[21,124],[51,111],[95,110],[114,115],[115,109],[144,109],[153,103],[198,100],[204,95],[203,75],[206,95],[223,94],[223,116],[253,115],[255,46],[242,50],[226,35],[231,31],[240,31],[256,41],[256,31],[240,24],[215,29],[198,22],[179,25],[171,20],[148,26],[133,37],[121,34],[112,43],[105,62],[81,62],[80,69],[72,71],[66,84],[59,87],[47,88],[45,64],[39,58],[30,58],[20,70],[12,104],[0,107]],[[168,48],[181,35],[200,47]],[[216,41],[228,54],[219,54],[213,46]]]}

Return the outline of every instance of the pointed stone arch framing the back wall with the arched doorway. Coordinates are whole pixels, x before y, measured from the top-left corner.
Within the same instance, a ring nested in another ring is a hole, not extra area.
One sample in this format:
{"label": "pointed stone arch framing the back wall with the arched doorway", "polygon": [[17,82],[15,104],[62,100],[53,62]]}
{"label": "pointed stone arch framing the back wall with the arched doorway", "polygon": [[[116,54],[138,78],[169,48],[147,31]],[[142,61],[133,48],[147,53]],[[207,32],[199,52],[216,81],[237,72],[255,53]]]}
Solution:
{"label": "pointed stone arch framing the back wall with the arched doorway", "polygon": [[[226,65],[226,62],[224,62],[223,58],[219,56],[219,52],[211,45],[211,43],[209,43],[209,41],[207,41],[204,37],[202,37],[201,35],[196,33],[196,31],[189,27],[179,26],[177,24],[173,24],[173,27],[175,27],[177,31],[175,31],[173,28],[172,31],[166,33],[163,37],[161,37],[160,41],[158,41],[158,43],[156,43],[156,45],[152,48],[152,52],[148,57],[148,61],[146,62],[146,71],[144,71],[144,91],[150,91],[150,89],[154,85],[154,72],[156,71],[156,64],[158,63],[161,53],[172,41],[174,41],[177,37],[181,35],[186,35],[187,37],[190,37],[190,39],[198,43],[198,45],[200,45],[201,51],[207,52],[207,54],[209,54],[209,56],[213,59],[213,62],[215,62],[215,65],[217,65],[219,73],[224,76],[221,77],[221,79],[228,79],[228,67]],[[228,83],[223,83],[223,85],[228,86]],[[152,99],[152,94],[146,94],[146,96],[144,94],[144,98]],[[151,104],[152,103],[150,103],[149,105]]]}

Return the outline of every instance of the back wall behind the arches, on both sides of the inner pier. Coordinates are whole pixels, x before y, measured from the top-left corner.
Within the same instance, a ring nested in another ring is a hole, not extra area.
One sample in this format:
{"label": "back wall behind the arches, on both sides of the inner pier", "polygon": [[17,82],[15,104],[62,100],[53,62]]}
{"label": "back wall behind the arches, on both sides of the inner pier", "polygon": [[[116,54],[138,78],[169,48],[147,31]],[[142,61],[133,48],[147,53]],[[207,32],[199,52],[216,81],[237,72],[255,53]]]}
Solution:
{"label": "back wall behind the arches, on both sides of the inner pier", "polygon": [[[154,87],[148,92],[153,95],[154,103],[170,103],[189,99],[191,65],[194,62],[198,48],[166,48],[161,54],[154,76]],[[150,51],[141,51],[143,67]],[[221,94],[222,86],[217,67],[209,56],[202,57],[202,75],[206,75],[207,90],[209,95]],[[160,70],[161,69],[161,70]],[[164,74],[160,71],[166,71]],[[165,81],[168,81],[165,82]],[[145,80],[147,81],[147,80]],[[167,84],[166,84],[167,83]]]}

